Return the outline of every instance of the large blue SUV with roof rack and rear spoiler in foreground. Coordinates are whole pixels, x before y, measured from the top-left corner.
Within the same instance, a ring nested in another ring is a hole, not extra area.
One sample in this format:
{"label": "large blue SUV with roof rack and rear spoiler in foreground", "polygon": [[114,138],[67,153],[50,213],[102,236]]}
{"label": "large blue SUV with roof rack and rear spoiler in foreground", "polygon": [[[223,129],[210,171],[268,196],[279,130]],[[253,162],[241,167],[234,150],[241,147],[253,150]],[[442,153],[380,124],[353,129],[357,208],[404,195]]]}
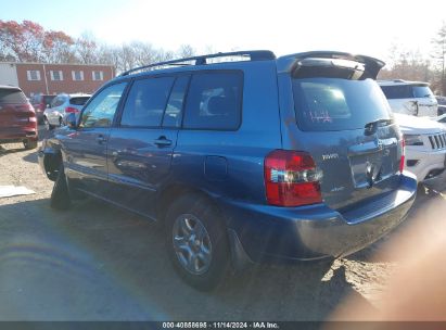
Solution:
{"label": "large blue SUV with roof rack and rear spoiler in foreground", "polygon": [[[249,61],[208,62],[231,56]],[[88,194],[161,221],[175,268],[201,290],[231,265],[356,252],[417,191],[374,80],[383,65],[247,51],[126,72],[44,140],[51,206]]]}

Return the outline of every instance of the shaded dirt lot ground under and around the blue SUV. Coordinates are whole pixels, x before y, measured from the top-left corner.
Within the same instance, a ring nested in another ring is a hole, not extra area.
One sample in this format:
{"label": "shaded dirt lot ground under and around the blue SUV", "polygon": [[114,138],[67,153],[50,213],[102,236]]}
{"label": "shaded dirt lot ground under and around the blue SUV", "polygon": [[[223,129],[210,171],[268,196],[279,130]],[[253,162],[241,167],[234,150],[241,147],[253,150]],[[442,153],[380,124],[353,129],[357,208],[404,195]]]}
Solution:
{"label": "shaded dirt lot ground under and around the blue SUV", "polygon": [[[445,202],[445,178],[420,187],[400,227]],[[37,150],[0,148],[4,185],[36,194],[0,199],[0,320],[322,320],[347,296],[379,308],[398,269],[397,256],[380,252],[400,228],[330,264],[256,266],[202,293],[177,277],[146,220],[93,200],[51,210]]]}

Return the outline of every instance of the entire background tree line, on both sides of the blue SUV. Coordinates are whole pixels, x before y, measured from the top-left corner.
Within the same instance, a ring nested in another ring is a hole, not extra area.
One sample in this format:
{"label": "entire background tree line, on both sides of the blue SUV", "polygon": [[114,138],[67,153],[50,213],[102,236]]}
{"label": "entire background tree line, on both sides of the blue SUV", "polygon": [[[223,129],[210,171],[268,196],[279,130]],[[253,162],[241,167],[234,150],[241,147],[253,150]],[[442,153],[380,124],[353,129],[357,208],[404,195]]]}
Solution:
{"label": "entire background tree line, on both sides of the blue SUV", "polygon": [[[67,64],[111,64],[116,71],[195,54],[190,45],[176,51],[154,48],[151,43],[132,41],[120,46],[98,42],[84,34],[73,38],[60,30],[46,30],[31,21],[0,20],[0,62],[39,62]],[[446,96],[446,23],[432,38],[432,53],[424,58],[420,51],[393,46],[391,65],[381,71],[380,79],[406,79],[431,82],[438,94]]]}

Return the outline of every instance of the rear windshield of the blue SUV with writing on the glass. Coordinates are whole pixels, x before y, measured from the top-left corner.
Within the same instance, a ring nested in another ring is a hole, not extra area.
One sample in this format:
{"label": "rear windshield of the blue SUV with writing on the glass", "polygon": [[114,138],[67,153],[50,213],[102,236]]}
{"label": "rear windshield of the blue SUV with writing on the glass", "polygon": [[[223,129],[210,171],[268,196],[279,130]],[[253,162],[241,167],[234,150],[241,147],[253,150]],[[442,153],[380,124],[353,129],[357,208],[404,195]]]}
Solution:
{"label": "rear windshield of the blue SUV with writing on the glass", "polygon": [[388,102],[372,79],[293,79],[293,94],[302,130],[358,129],[391,119]]}

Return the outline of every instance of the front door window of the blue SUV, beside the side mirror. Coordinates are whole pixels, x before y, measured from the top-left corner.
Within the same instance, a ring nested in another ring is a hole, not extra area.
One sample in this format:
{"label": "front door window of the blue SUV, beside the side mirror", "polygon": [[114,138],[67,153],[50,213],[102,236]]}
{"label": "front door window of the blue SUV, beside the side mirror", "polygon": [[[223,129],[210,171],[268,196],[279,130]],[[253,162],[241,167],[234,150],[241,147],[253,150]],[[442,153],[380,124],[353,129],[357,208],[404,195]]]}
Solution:
{"label": "front door window of the blue SUV, beside the side mirror", "polygon": [[80,127],[111,126],[126,86],[127,82],[115,84],[95,96],[82,112]]}

